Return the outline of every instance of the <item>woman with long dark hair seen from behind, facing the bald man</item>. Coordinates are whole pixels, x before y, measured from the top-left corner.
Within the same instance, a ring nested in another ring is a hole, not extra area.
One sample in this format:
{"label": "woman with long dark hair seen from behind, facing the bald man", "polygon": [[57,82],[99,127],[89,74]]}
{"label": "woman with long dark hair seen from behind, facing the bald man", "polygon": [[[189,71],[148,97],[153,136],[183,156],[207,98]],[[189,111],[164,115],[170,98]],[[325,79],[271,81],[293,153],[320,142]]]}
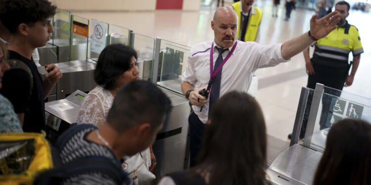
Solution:
{"label": "woman with long dark hair seen from behind, facing the bald man", "polygon": [[214,105],[194,168],[159,185],[266,185],[267,135],[253,97],[232,91]]}

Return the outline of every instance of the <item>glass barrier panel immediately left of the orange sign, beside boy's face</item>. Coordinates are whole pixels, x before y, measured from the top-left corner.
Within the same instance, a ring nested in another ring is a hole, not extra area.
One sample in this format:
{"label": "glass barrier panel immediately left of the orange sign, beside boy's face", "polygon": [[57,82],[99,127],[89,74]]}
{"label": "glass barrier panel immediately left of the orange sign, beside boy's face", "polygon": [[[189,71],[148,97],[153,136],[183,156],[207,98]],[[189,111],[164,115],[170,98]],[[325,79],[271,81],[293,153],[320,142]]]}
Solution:
{"label": "glass barrier panel immediately left of the orange sign, beside boy's face", "polygon": [[71,12],[57,9],[53,16],[52,45],[57,46],[58,62],[70,60]]}

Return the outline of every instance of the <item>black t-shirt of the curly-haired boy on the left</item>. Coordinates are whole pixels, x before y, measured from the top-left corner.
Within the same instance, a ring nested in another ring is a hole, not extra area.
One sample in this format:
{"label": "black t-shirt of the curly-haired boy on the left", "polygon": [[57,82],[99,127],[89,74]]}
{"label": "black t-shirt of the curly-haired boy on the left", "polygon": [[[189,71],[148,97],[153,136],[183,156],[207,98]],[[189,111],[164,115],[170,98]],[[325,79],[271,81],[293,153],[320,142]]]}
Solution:
{"label": "black t-shirt of the curly-haired boy on the left", "polygon": [[[45,130],[44,83],[34,61],[27,59],[15,51],[9,50],[9,60],[17,59],[24,62],[33,75],[24,70],[9,70],[2,77],[0,93],[13,105],[15,113],[24,113],[23,131],[41,132]],[[32,88],[31,94],[30,89]]]}

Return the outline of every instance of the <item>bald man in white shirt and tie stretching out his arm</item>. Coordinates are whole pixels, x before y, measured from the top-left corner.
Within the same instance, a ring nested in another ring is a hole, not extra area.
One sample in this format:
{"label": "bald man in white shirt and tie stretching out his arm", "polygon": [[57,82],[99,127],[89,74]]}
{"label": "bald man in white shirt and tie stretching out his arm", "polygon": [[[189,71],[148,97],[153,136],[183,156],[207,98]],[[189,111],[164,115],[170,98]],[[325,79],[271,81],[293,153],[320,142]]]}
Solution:
{"label": "bald man in white shirt and tie stretching out his arm", "polygon": [[[236,40],[237,14],[231,7],[221,7],[215,12],[211,21],[214,40],[192,46],[182,78],[182,92],[193,109],[188,118],[191,166],[196,164],[195,158],[210,107],[220,96],[232,90],[245,91],[257,69],[287,62],[315,40],[334,30],[340,20],[337,11],[323,19],[316,20],[316,17],[317,15],[312,17],[311,30],[308,33],[282,44],[260,45]],[[221,51],[219,56],[218,50],[223,49],[229,51]],[[202,89],[207,89],[205,96],[199,94]]]}

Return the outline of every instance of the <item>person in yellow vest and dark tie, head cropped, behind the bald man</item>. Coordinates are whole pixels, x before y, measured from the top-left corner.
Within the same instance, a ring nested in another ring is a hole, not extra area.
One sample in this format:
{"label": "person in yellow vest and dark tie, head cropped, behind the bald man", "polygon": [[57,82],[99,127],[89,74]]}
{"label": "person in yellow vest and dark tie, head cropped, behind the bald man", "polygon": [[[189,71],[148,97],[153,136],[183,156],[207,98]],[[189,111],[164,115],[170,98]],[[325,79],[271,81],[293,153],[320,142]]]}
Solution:
{"label": "person in yellow vest and dark tie, head cropped, behind the bald man", "polygon": [[231,6],[238,16],[237,39],[242,41],[258,41],[259,25],[263,12],[253,6],[254,0],[240,0]]}

